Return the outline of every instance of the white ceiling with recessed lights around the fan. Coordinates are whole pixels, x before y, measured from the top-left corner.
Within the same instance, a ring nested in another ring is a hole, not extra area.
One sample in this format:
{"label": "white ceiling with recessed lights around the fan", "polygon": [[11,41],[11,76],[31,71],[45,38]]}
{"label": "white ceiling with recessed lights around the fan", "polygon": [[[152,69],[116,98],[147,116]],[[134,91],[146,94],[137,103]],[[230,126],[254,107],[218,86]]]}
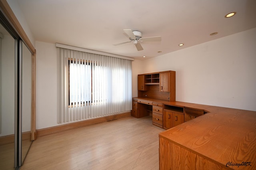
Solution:
{"label": "white ceiling with recessed lights around the fan", "polygon": [[[143,59],[256,27],[256,0],[18,0],[36,41]],[[231,18],[224,18],[237,12]],[[123,29],[162,42],[135,45]],[[216,36],[210,33],[218,32]],[[184,46],[179,47],[179,43]],[[157,51],[162,51],[158,53]]]}

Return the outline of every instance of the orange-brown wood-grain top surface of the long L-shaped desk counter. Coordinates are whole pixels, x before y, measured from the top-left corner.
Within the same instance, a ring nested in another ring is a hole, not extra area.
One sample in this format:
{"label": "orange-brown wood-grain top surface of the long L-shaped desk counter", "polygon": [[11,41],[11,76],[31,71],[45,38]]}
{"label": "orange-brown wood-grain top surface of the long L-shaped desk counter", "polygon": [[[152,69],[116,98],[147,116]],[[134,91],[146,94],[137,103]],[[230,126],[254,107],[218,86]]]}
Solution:
{"label": "orange-brown wood-grain top surface of the long L-shaped desk counter", "polygon": [[[210,160],[222,168],[256,169],[255,111],[178,101],[162,102],[165,105],[202,109],[208,113],[161,132],[160,138]],[[247,166],[245,164],[238,166],[242,162],[250,163],[247,163]]]}

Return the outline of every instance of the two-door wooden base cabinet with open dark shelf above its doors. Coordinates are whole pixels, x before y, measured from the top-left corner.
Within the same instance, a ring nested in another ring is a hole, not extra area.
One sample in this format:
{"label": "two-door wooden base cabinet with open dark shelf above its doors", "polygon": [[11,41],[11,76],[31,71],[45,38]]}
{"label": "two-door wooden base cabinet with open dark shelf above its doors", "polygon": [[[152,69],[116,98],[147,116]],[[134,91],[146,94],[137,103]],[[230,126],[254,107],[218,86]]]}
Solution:
{"label": "two-door wooden base cabinet with open dark shelf above its doors", "polygon": [[164,105],[163,128],[169,129],[184,123],[183,107]]}

